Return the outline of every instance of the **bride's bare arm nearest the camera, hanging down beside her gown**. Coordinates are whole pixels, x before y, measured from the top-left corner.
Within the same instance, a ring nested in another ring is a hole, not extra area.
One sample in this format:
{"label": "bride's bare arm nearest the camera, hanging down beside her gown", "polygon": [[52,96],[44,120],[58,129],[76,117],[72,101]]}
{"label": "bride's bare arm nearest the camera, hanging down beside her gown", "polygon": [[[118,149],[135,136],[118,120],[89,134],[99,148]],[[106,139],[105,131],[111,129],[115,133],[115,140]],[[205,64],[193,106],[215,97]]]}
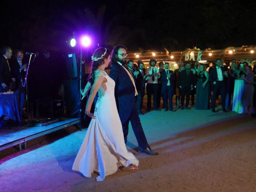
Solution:
{"label": "bride's bare arm nearest the camera, hanging down beside her gown", "polygon": [[95,116],[92,113],[90,113],[90,110],[92,107],[92,102],[93,102],[94,97],[96,96],[100,86],[102,85],[102,83],[104,81],[105,81],[105,78],[102,76],[98,76],[95,78],[94,83],[92,84],[92,89],[91,89],[89,98],[86,103],[85,113],[86,113],[86,115],[88,115],[89,117],[94,118],[94,119],[95,119]]}

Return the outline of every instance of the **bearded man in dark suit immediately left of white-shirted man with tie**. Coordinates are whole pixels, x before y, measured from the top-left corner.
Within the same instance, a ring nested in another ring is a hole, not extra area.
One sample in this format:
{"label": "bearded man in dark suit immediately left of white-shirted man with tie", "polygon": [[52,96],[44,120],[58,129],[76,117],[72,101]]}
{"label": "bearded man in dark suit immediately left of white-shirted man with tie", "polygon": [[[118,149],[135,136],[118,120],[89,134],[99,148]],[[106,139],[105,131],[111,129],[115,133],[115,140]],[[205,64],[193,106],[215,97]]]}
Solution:
{"label": "bearded man in dark suit immediately left of white-shirted man with tie", "polygon": [[138,109],[138,114],[139,115],[144,115],[144,112],[141,111],[142,104],[143,104],[143,98],[145,95],[145,78],[146,74],[143,71],[144,69],[144,63],[139,64],[139,74],[136,77],[136,89],[138,91],[138,96],[137,96],[137,109]]}

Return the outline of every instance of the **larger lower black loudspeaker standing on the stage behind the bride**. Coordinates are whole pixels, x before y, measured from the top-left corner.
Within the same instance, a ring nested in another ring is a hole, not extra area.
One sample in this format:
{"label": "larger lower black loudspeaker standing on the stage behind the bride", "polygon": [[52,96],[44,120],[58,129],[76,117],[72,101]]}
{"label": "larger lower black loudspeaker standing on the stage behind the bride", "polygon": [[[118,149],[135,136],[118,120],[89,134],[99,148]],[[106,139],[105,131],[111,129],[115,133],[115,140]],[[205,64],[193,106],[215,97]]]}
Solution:
{"label": "larger lower black loudspeaker standing on the stage behind the bride", "polygon": [[80,117],[78,80],[64,81],[64,101],[67,117]]}

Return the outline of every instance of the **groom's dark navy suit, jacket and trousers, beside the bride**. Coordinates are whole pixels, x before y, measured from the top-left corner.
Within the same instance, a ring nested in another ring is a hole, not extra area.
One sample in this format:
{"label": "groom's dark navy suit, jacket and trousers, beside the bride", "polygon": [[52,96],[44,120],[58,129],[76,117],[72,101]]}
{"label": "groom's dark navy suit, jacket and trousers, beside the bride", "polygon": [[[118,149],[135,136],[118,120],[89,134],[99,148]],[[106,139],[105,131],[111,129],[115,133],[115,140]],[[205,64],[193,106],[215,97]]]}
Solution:
{"label": "groom's dark navy suit, jacket and trousers, beside the bride", "polygon": [[[129,70],[127,67],[126,69]],[[124,141],[127,142],[128,125],[130,121],[140,149],[148,148],[149,145],[142,129],[137,111],[135,101],[135,88],[132,84],[130,76],[126,70],[118,63],[113,64],[109,76],[116,82],[116,106],[118,108],[118,114],[123,126]]]}

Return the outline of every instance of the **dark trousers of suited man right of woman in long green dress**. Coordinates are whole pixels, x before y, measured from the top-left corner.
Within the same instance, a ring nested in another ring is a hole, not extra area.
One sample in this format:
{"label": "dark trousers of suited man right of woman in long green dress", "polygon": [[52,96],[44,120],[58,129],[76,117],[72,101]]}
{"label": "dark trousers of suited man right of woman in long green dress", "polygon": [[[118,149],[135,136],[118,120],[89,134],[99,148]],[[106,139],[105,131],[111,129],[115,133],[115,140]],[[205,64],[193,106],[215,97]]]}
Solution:
{"label": "dark trousers of suited man right of woman in long green dress", "polygon": [[226,84],[225,81],[216,81],[215,85],[212,85],[213,98],[212,98],[212,109],[215,109],[215,103],[218,98],[218,93],[220,91],[222,110],[225,110],[225,100],[226,100]]}

